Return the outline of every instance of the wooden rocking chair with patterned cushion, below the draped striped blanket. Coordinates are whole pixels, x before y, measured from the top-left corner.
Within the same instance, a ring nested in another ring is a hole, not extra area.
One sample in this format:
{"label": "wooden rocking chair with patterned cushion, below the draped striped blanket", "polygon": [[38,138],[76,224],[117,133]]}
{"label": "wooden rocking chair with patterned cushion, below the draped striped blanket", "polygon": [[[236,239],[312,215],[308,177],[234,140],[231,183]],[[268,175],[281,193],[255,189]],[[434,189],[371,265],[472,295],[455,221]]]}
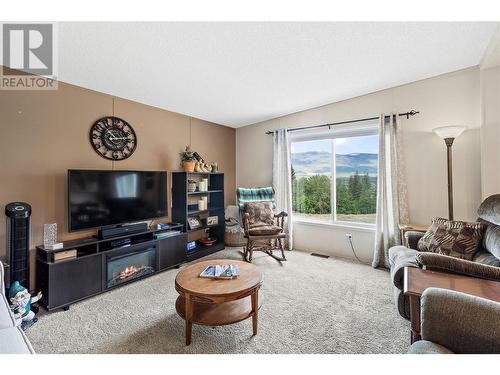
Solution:
{"label": "wooden rocking chair with patterned cushion, below the draped striped blanket", "polygon": [[[243,229],[247,245],[244,248],[243,258],[252,262],[254,251],[263,251],[279,262],[286,261],[285,257],[285,217],[284,211],[275,215],[272,202],[248,202],[245,204],[243,215]],[[273,254],[273,250],[281,250],[281,257]]]}

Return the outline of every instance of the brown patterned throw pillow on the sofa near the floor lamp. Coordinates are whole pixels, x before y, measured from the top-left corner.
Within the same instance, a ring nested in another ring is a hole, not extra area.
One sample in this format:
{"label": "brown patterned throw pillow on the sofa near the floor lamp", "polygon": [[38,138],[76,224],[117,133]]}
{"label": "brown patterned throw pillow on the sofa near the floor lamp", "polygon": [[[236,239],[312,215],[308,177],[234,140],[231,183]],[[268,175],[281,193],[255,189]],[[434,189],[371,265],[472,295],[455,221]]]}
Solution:
{"label": "brown patterned throw pillow on the sofa near the floor lamp", "polygon": [[417,248],[419,251],[472,260],[481,243],[483,231],[482,223],[436,217],[432,219],[431,226],[418,241]]}

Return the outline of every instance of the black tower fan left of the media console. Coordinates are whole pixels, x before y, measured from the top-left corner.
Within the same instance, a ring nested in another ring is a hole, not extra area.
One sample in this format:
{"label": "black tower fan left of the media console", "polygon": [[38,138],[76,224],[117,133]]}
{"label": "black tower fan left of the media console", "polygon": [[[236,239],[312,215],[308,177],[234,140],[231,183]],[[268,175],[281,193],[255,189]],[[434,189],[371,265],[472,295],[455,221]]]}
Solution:
{"label": "black tower fan left of the media console", "polygon": [[19,281],[29,290],[29,250],[31,234],[31,206],[13,202],[5,206],[7,216],[7,262],[10,265],[10,281]]}

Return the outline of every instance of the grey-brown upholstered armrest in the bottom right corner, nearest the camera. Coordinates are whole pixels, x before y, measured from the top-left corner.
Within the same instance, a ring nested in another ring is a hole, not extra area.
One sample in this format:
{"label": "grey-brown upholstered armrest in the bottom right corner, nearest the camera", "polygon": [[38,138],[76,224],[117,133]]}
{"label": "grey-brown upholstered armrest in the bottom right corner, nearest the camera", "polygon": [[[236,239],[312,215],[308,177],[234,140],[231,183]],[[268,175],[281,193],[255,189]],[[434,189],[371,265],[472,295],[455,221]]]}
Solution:
{"label": "grey-brown upholstered armrest in the bottom right corner, nearest the camera", "polygon": [[423,340],[455,353],[500,353],[500,303],[428,288],[420,306]]}

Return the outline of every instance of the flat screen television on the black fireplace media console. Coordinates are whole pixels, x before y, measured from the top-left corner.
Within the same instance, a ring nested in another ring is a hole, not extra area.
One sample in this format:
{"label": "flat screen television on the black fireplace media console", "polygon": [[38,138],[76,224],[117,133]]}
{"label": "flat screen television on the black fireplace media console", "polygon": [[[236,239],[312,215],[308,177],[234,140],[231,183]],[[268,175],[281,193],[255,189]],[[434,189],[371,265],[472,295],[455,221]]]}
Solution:
{"label": "flat screen television on the black fireplace media console", "polygon": [[68,170],[70,232],[168,215],[167,172]]}

